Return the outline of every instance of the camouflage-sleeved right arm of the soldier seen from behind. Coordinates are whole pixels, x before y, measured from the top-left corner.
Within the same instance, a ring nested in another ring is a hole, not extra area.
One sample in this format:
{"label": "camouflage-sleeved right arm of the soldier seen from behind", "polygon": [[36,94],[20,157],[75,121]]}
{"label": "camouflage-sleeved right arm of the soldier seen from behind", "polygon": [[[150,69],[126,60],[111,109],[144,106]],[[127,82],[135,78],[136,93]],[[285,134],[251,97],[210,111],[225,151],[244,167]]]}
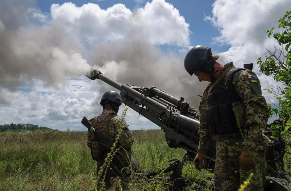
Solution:
{"label": "camouflage-sleeved right arm of the soldier seen from behind", "polygon": [[112,131],[109,131],[111,134],[117,135],[121,129],[121,134],[119,137],[120,145],[127,149],[131,147],[134,142],[134,137],[132,132],[129,130],[128,125],[126,124],[125,120],[120,117],[114,117],[109,124],[109,127],[113,127]]}

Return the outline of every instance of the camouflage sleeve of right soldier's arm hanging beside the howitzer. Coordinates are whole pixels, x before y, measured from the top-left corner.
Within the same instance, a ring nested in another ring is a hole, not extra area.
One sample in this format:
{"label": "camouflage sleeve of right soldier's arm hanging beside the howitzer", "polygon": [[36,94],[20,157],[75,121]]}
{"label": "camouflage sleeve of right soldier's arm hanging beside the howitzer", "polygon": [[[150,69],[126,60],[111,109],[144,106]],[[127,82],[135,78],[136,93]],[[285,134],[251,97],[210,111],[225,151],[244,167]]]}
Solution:
{"label": "camouflage sleeve of right soldier's arm hanging beside the howitzer", "polygon": [[199,146],[198,146],[198,151],[205,152],[208,146],[208,143],[211,139],[211,134],[209,131],[209,127],[207,126],[207,121],[206,121],[206,109],[207,109],[207,100],[208,100],[208,89],[205,89],[200,101],[199,105],[199,122],[200,122],[200,127],[199,127],[199,135],[200,135],[200,140],[199,140]]}

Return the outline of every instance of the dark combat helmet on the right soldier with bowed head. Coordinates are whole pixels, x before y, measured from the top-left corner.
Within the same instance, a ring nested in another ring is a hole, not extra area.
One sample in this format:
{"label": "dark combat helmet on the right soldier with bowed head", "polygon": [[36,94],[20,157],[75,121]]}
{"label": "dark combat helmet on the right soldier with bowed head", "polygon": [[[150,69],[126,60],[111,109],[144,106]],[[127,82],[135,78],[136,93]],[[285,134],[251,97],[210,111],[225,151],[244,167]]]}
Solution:
{"label": "dark combat helmet on the right soldier with bowed head", "polygon": [[184,68],[190,75],[193,75],[196,70],[210,74],[214,71],[214,61],[218,57],[218,55],[212,56],[211,48],[198,45],[191,48],[186,54]]}

